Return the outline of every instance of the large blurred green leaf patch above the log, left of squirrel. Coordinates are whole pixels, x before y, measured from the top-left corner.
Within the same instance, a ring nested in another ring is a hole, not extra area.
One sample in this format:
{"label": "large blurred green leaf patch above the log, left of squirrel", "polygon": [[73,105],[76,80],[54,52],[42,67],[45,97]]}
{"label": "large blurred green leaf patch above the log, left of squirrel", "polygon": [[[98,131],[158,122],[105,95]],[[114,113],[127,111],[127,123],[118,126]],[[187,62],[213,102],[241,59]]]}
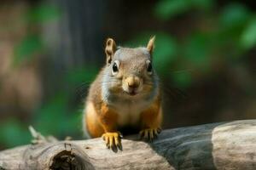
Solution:
{"label": "large blurred green leaf patch above the log, left of squirrel", "polygon": [[80,132],[79,112],[68,108],[69,98],[63,91],[55,94],[38,111],[33,126],[41,133],[53,134],[62,138],[65,137],[65,134]]}

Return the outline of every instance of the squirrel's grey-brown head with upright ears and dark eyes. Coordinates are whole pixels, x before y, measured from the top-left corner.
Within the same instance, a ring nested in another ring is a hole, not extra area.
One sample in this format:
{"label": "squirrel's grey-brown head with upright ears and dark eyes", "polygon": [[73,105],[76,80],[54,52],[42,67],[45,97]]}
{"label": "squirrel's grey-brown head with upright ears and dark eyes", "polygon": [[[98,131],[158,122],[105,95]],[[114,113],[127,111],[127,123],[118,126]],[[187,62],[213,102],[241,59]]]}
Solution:
{"label": "squirrel's grey-brown head with upright ears and dark eyes", "polygon": [[154,37],[146,48],[116,48],[112,38],[106,42],[107,65],[102,78],[106,95],[137,98],[152,96],[157,76],[152,64]]}

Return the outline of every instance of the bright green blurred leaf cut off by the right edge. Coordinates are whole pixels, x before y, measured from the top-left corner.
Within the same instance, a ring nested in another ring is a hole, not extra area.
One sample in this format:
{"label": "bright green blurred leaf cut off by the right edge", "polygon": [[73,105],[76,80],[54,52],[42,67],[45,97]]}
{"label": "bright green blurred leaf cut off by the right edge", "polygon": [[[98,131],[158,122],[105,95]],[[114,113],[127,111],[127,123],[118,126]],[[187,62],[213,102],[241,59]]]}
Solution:
{"label": "bright green blurred leaf cut off by the right edge", "polygon": [[256,18],[253,18],[241,34],[241,47],[253,48],[256,45]]}

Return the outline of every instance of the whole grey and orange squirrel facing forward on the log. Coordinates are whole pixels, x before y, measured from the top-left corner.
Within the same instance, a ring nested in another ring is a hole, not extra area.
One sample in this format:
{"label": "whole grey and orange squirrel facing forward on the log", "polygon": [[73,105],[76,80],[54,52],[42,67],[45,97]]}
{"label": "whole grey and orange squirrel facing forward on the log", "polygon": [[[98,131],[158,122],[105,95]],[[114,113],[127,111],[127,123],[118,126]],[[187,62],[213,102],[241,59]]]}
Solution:
{"label": "whole grey and orange squirrel facing forward on the log", "polygon": [[[83,128],[101,137],[108,148],[121,146],[122,134],[139,133],[153,141],[162,122],[159,78],[152,65],[154,37],[147,47],[116,47],[108,38],[106,65],[91,83],[85,101]],[[124,130],[124,131],[122,131]]]}

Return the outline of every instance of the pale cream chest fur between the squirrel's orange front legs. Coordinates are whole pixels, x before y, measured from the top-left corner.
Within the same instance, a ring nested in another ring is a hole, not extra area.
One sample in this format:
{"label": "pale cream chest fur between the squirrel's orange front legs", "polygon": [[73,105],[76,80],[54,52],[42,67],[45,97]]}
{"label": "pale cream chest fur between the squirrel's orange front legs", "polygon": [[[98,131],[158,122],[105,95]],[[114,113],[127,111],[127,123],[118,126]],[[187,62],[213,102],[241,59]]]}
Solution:
{"label": "pale cream chest fur between the squirrel's orange front legs", "polygon": [[145,101],[119,102],[116,104],[114,107],[119,114],[119,126],[137,124],[137,122],[139,122],[141,112],[147,109],[148,104],[149,103]]}

